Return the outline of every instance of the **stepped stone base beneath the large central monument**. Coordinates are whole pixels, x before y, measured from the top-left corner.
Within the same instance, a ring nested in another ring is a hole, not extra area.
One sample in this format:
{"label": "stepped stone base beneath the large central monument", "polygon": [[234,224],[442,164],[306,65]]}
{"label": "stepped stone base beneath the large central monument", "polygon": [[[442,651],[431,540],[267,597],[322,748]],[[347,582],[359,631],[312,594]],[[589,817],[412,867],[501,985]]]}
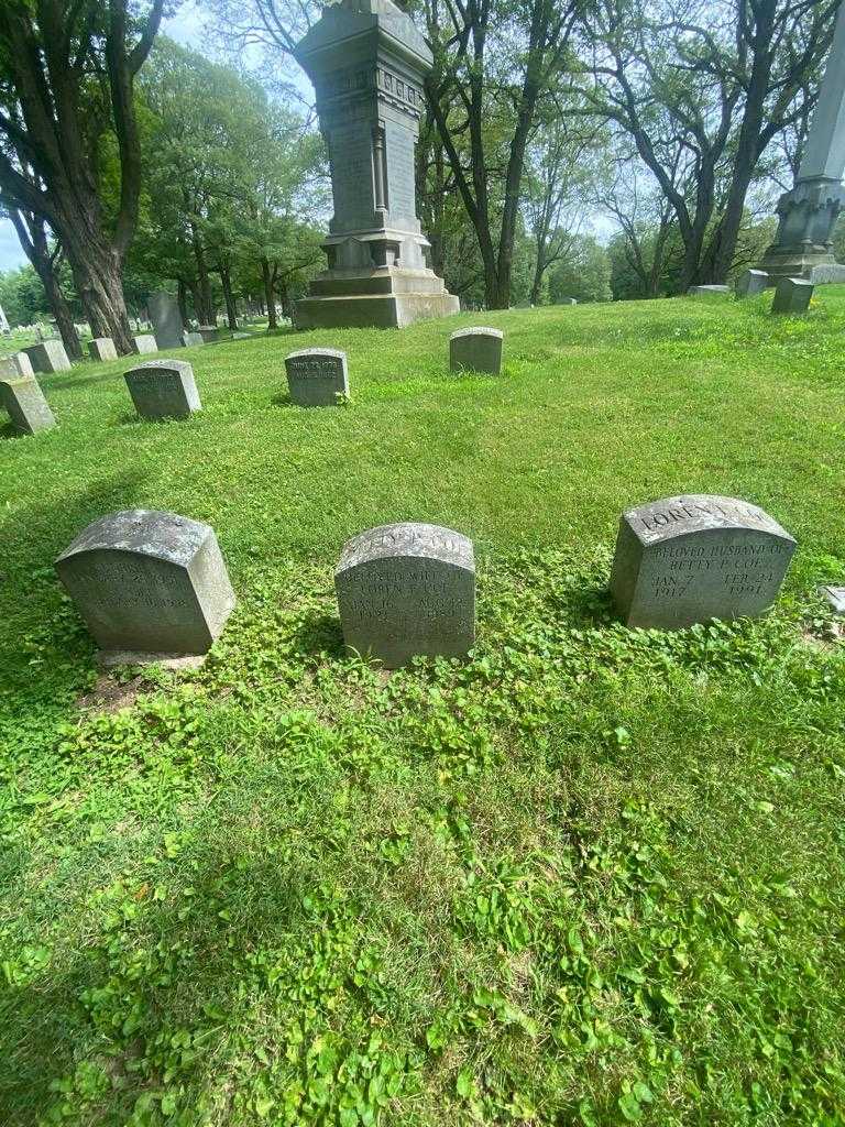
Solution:
{"label": "stepped stone base beneath the large central monument", "polygon": [[308,298],[294,304],[297,329],[403,329],[425,318],[461,311],[459,299],[429,269],[326,270],[309,291]]}

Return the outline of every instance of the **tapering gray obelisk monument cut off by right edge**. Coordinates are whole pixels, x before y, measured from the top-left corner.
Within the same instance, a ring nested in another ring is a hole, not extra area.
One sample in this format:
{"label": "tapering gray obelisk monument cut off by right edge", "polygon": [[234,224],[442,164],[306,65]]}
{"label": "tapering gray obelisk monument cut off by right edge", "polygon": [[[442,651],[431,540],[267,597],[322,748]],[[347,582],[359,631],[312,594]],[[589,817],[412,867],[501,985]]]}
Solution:
{"label": "tapering gray obelisk monument cut off by right edge", "polygon": [[831,241],[845,203],[844,170],[845,5],[836,17],[830,57],[795,186],[777,201],[777,234],[760,263],[770,285],[783,277],[845,282],[845,266],[837,265]]}

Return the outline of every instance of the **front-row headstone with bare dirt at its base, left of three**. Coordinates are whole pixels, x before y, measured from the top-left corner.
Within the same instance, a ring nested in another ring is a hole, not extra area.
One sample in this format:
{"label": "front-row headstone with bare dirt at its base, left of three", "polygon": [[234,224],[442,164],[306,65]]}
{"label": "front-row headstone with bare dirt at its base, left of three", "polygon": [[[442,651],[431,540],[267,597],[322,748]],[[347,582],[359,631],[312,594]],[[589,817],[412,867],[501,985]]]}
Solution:
{"label": "front-row headstone with bare dirt at its base, left of three", "polygon": [[213,529],[174,513],[104,516],[55,568],[100,649],[127,662],[205,654],[235,603]]}

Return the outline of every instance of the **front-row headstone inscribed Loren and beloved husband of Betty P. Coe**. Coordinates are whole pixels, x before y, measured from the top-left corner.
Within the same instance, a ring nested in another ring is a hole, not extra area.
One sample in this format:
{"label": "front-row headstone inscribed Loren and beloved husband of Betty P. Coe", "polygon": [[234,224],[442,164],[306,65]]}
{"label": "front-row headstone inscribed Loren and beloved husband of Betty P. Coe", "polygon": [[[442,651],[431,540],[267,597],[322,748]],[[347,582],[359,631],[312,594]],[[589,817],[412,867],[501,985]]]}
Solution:
{"label": "front-row headstone inscribed Loren and beloved husband of Betty P. Coe", "polygon": [[762,614],[795,541],[736,497],[666,497],[622,514],[611,592],[630,627],[675,630]]}

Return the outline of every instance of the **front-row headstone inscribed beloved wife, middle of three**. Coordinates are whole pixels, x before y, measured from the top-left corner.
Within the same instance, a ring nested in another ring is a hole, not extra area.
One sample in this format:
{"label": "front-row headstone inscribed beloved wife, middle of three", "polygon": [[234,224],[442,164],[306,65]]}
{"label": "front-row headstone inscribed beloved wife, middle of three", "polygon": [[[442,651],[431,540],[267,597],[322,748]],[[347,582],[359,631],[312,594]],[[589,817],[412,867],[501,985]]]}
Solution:
{"label": "front-row headstone inscribed beloved wife, middle of three", "polygon": [[463,657],[475,640],[472,541],[436,524],[386,524],[349,540],[335,573],[346,645],[388,669]]}

